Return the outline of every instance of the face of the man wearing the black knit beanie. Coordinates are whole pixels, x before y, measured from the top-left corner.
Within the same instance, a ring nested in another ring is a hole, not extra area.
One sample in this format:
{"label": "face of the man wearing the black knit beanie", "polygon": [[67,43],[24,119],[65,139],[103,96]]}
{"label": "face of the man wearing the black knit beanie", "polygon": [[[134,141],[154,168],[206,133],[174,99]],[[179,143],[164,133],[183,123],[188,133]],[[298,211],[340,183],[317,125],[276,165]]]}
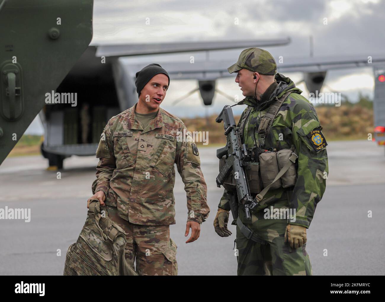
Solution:
{"label": "face of the man wearing the black knit beanie", "polygon": [[167,88],[168,78],[166,74],[159,73],[153,76],[143,87],[138,102],[146,107],[149,112],[157,111],[166,97]]}

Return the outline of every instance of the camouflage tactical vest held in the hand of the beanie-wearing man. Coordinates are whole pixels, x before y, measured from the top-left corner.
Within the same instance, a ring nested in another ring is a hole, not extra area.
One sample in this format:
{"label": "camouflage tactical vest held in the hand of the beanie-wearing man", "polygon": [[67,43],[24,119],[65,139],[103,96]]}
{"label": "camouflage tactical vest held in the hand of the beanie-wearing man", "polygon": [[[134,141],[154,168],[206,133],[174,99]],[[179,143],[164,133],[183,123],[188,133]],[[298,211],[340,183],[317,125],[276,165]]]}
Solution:
{"label": "camouflage tactical vest held in the hand of the beanie-wearing man", "polygon": [[68,248],[63,275],[137,275],[124,256],[126,243],[126,233],[93,199],[79,238]]}

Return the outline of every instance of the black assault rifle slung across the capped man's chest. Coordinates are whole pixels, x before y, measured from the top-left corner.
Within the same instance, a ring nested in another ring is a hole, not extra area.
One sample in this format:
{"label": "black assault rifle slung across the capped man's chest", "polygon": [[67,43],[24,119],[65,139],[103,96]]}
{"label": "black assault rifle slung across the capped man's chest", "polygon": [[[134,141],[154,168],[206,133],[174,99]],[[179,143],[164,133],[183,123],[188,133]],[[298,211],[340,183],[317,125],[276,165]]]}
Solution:
{"label": "black assault rifle slung across the capped man's chest", "polygon": [[[226,177],[231,170],[233,170],[234,178],[236,180],[236,192],[228,192],[231,213],[233,214],[234,220],[236,220],[238,217],[239,202],[244,206],[246,219],[251,219],[250,209],[253,209],[258,205],[258,202],[254,201],[250,194],[245,173],[245,162],[250,160],[250,157],[246,145],[241,142],[241,137],[239,135],[239,130],[235,125],[231,106],[224,106],[215,121],[217,123],[223,121],[224,135],[226,135],[227,138],[226,146],[217,150],[218,159],[222,159],[222,157],[226,155],[226,164],[223,169],[219,171],[216,178],[217,187],[223,185]],[[238,197],[238,202],[236,202],[234,194]]]}

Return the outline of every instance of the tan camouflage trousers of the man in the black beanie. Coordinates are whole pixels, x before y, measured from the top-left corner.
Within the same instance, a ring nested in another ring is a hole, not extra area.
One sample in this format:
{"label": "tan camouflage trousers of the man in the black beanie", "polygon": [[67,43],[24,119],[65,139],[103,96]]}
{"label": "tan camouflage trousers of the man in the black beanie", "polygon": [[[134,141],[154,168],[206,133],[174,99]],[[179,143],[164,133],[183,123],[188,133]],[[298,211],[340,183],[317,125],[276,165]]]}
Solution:
{"label": "tan camouflage trousers of the man in the black beanie", "polygon": [[170,226],[145,226],[129,223],[118,216],[117,208],[106,206],[108,216],[126,233],[126,260],[136,264],[138,275],[177,275],[175,242],[170,238]]}

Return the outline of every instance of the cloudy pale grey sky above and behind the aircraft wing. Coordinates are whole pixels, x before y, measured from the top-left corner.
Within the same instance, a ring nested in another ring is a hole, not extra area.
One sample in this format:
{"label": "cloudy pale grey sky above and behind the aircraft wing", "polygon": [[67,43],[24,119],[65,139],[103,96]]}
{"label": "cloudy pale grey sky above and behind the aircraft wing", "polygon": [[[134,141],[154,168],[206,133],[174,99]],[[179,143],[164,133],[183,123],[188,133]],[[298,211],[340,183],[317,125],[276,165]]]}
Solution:
{"label": "cloudy pale grey sky above and behind the aircraft wing", "polygon": [[[384,53],[384,15],[382,0],[94,0],[94,34],[91,43],[236,41],[290,37],[289,45],[266,49],[275,57],[301,58],[310,56],[311,35],[314,57],[367,57]],[[239,24],[234,24],[236,18]],[[150,24],[146,24],[146,20]],[[241,51],[215,52],[215,56],[236,62]],[[187,60],[191,54],[185,55]],[[156,62],[156,59],[161,62],[159,57],[147,58],[149,63]],[[302,73],[285,73],[285,76],[294,82],[303,79]],[[358,92],[372,96],[373,84],[371,68],[341,69],[327,73],[321,91],[332,89],[356,101]],[[178,105],[171,106],[173,100],[197,86],[197,81],[193,80],[174,81],[170,84],[162,107],[179,117],[202,116],[218,113],[220,108],[229,103],[217,93],[213,106],[204,108],[199,94],[195,93]],[[233,78],[219,79],[217,87],[230,95],[238,93],[242,98]],[[298,87],[308,98],[305,84],[299,84]],[[35,119],[27,133],[42,133],[38,119]]]}

